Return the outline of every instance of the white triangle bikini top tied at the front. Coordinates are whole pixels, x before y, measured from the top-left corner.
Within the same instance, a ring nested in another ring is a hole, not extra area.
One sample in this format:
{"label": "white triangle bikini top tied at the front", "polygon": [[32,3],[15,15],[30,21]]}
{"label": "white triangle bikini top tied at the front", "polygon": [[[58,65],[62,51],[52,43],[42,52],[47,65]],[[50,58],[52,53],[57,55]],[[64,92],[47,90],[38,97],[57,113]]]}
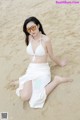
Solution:
{"label": "white triangle bikini top tied at the front", "polygon": [[38,47],[36,48],[35,52],[33,51],[32,49],[32,44],[31,44],[31,41],[29,42],[29,45],[27,46],[27,53],[29,55],[33,55],[33,59],[32,61],[35,60],[36,56],[44,56],[45,55],[45,50],[44,50],[44,47],[42,46],[41,44],[41,40],[42,40],[42,37],[40,39],[40,44],[38,45]]}

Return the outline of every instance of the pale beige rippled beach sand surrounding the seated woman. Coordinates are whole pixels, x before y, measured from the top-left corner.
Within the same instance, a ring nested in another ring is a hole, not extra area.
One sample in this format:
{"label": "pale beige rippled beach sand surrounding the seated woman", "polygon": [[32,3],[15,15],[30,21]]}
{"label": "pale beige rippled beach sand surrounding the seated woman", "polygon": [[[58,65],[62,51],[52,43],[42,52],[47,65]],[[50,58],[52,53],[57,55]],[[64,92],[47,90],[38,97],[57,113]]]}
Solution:
{"label": "pale beige rippled beach sand surrounding the seated woman", "polygon": [[[9,120],[80,120],[79,11],[80,4],[56,4],[55,0],[0,0],[0,112],[8,112]],[[41,21],[54,54],[68,60],[65,67],[49,61],[52,79],[56,74],[74,79],[58,86],[43,109],[31,109],[16,96],[15,89],[6,87],[29,64],[22,31],[27,16]]]}

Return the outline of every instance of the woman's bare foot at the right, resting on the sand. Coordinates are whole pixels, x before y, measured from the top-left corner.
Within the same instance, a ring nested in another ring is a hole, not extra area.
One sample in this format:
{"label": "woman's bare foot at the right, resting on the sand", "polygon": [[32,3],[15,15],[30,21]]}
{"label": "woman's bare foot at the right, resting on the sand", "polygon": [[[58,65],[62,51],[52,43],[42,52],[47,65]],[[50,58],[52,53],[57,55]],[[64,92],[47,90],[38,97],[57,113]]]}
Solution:
{"label": "woman's bare foot at the right, resting on the sand", "polygon": [[66,82],[72,82],[73,79],[71,78],[68,78],[68,77],[60,77],[60,76],[55,76],[54,78],[55,82],[57,84],[60,84],[60,83],[66,83]]}

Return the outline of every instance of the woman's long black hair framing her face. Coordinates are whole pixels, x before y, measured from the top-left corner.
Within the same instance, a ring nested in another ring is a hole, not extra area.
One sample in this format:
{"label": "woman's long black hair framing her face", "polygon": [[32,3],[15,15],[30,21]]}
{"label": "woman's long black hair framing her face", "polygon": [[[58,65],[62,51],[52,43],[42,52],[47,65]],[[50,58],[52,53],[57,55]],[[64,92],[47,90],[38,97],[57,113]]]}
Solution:
{"label": "woman's long black hair framing her face", "polygon": [[44,34],[44,35],[46,35],[45,33],[44,33],[44,30],[43,30],[43,27],[42,27],[42,24],[40,23],[40,21],[36,18],[36,17],[29,17],[29,18],[27,18],[26,20],[25,20],[25,22],[24,22],[24,24],[23,24],[23,32],[25,33],[25,35],[26,35],[26,38],[25,38],[25,43],[26,43],[26,45],[28,45],[29,44],[29,33],[27,32],[27,29],[26,29],[26,26],[27,26],[27,24],[29,23],[29,22],[34,22],[37,26],[39,25],[40,27],[39,27],[39,31],[41,31],[41,33],[42,34]]}

